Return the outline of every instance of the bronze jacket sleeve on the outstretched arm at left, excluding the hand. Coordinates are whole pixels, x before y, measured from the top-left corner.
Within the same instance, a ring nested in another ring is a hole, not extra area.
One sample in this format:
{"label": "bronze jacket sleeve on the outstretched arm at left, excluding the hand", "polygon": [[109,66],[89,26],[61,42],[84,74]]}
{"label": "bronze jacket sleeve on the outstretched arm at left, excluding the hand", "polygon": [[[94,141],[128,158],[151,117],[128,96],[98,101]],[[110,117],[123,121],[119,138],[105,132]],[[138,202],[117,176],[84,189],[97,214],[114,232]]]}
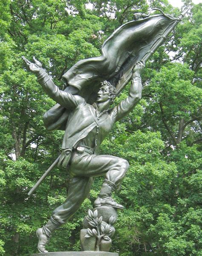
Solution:
{"label": "bronze jacket sleeve on the outstretched arm at left, excluding the hand", "polygon": [[74,109],[79,104],[85,102],[84,98],[81,96],[73,95],[69,92],[64,92],[63,90],[59,89],[45,71],[40,74],[40,76],[38,76],[37,80],[47,95],[49,95],[50,98],[65,108]]}

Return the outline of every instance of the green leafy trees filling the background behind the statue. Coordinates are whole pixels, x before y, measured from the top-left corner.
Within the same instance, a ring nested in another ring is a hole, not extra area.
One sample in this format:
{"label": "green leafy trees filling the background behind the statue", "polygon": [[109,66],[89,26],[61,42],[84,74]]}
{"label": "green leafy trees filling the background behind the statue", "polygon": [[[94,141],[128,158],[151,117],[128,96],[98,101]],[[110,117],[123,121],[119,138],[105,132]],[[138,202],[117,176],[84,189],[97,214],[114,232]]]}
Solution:
{"label": "green leafy trees filling the background behind the statue", "polygon": [[[90,7],[90,8],[89,8]],[[0,2],[0,254],[36,253],[35,230],[66,198],[68,171],[52,173],[27,193],[57,158],[62,131],[48,133],[42,116],[54,101],[21,56],[43,63],[63,89],[62,75],[78,60],[100,55],[104,40],[135,12],[167,0],[24,0]],[[188,15],[142,74],[143,98],[102,144],[102,153],[130,162],[115,199],[119,211],[112,251],[133,255],[201,255],[201,5],[184,1]],[[125,98],[128,86],[116,99]],[[16,161],[13,160],[15,155]],[[102,179],[79,211],[52,237],[50,251],[80,250],[81,222]]]}

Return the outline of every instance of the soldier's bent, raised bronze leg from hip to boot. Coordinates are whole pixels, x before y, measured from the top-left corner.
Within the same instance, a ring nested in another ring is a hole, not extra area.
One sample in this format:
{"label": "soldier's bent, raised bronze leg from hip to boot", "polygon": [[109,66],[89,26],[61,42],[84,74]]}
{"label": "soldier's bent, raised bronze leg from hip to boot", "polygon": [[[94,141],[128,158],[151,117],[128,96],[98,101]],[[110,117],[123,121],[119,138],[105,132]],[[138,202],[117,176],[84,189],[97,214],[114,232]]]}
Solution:
{"label": "soldier's bent, raised bronze leg from hip to boot", "polygon": [[105,174],[105,180],[102,185],[98,199],[95,205],[111,205],[116,208],[123,208],[112,198],[112,192],[116,190],[128,170],[127,160],[110,155],[75,155],[72,158],[72,175],[76,176],[100,176]]}

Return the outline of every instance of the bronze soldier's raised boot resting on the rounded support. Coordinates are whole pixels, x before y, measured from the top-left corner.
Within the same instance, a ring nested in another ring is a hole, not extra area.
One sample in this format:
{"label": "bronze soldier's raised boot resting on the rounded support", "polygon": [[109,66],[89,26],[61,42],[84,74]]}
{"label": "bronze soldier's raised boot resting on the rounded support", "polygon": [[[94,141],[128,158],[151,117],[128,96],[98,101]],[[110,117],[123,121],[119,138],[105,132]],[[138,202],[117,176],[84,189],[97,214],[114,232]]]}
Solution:
{"label": "bronze soldier's raised boot resting on the rounded support", "polygon": [[109,205],[114,208],[123,209],[124,206],[115,202],[115,200],[111,197],[112,192],[115,190],[116,185],[113,182],[105,179],[98,198],[94,202],[95,207],[101,205]]}

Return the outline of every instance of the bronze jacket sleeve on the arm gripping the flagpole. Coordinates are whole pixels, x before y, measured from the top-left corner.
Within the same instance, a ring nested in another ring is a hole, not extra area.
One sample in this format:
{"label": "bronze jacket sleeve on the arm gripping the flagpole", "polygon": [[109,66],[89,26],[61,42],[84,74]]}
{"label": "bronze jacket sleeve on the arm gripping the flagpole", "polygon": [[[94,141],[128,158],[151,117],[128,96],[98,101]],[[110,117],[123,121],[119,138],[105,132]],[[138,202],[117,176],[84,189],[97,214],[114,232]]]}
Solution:
{"label": "bronze jacket sleeve on the arm gripping the flagpole", "polygon": [[126,116],[136,106],[141,99],[141,91],[141,77],[135,75],[132,79],[129,96],[112,109],[111,115],[114,116],[115,122]]}

